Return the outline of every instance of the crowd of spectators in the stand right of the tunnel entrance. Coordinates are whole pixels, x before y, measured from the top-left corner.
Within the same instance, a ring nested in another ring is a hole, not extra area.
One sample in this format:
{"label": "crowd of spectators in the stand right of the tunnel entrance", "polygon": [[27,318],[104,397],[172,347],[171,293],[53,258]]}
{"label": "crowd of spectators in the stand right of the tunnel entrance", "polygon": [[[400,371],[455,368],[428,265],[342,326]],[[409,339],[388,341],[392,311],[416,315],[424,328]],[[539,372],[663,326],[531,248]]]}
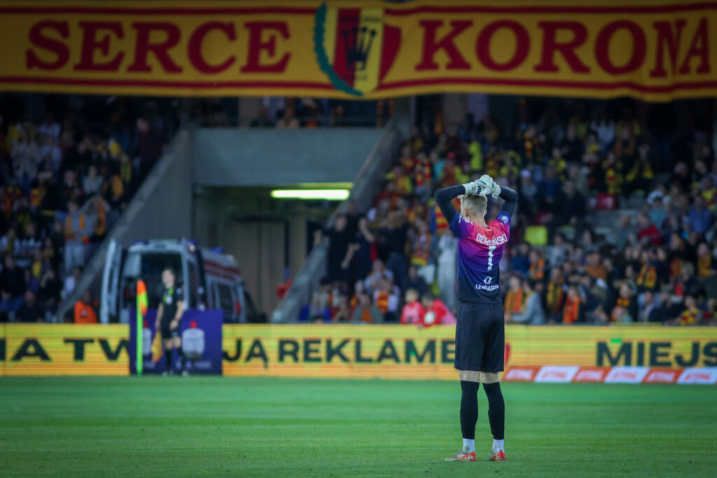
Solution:
{"label": "crowd of spectators in the stand right of the tunnel entrance", "polygon": [[520,194],[500,264],[506,322],[717,325],[711,115],[534,99],[514,116],[503,130],[466,115],[452,135],[424,116],[374,206],[318,231],[327,274],[300,320],[455,322],[457,240],[432,197],[488,173]]}

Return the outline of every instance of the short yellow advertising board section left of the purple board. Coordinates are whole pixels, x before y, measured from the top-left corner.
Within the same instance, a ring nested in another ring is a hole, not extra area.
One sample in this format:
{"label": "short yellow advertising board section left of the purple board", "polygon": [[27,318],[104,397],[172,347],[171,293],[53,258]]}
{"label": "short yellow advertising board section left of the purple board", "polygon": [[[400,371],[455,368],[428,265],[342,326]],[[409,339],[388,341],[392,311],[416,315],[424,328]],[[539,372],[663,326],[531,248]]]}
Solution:
{"label": "short yellow advertising board section left of the purple board", "polygon": [[0,376],[128,375],[127,325],[0,324]]}

